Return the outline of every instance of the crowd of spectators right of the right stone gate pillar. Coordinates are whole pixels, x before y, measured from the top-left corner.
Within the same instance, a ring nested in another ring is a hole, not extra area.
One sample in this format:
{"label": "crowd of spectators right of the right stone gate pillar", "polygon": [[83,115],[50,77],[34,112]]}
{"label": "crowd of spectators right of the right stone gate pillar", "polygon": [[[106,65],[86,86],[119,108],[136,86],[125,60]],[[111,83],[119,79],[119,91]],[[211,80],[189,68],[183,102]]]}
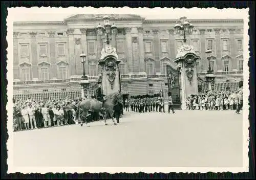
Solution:
{"label": "crowd of spectators right of the right stone gate pillar", "polygon": [[243,105],[242,102],[242,89],[239,89],[239,91],[209,91],[197,95],[190,95],[186,99],[186,109],[236,110],[239,113]]}

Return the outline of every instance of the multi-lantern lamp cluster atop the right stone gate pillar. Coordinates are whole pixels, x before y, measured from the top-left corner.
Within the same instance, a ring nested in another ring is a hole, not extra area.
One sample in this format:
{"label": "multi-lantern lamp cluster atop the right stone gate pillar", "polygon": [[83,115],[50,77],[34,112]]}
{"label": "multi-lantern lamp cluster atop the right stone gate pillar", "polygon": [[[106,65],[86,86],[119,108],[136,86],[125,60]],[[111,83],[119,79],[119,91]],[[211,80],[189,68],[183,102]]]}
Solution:
{"label": "multi-lantern lamp cluster atop the right stone gate pillar", "polygon": [[180,24],[178,24],[178,21],[176,21],[174,29],[176,34],[183,35],[183,41],[186,42],[186,33],[192,34],[194,26],[191,24],[191,22],[187,21],[186,17],[181,17],[180,21]]}

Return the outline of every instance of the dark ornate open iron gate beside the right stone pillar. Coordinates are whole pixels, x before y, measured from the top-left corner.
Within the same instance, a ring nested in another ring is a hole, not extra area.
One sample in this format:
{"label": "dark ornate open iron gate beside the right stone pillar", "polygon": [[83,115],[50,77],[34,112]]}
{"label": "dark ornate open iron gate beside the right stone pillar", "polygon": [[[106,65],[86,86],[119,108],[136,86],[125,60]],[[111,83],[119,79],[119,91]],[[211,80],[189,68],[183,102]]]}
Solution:
{"label": "dark ornate open iron gate beside the right stone pillar", "polygon": [[172,66],[166,65],[168,93],[172,93],[173,108],[181,109],[180,73]]}

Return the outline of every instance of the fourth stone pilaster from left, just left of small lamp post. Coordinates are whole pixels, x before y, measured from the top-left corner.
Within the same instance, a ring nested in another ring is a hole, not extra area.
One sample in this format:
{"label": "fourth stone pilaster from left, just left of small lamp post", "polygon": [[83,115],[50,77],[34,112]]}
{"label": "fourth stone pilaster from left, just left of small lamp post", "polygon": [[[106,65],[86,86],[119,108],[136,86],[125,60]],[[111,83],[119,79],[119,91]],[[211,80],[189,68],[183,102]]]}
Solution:
{"label": "fourth stone pilaster from left, just left of small lamp post", "polygon": [[70,76],[74,76],[76,73],[76,63],[75,63],[75,51],[74,51],[74,29],[67,30],[69,39],[69,72]]}

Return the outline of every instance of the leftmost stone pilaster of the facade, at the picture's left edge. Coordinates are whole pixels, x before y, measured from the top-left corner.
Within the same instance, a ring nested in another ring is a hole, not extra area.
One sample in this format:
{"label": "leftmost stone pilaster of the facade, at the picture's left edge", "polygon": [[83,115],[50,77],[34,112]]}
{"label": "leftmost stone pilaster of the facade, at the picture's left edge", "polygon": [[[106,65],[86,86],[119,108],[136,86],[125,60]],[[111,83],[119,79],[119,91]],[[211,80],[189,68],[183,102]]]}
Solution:
{"label": "leftmost stone pilaster of the facade, at the picture's left edge", "polygon": [[13,79],[20,79],[18,66],[18,32],[13,32]]}

